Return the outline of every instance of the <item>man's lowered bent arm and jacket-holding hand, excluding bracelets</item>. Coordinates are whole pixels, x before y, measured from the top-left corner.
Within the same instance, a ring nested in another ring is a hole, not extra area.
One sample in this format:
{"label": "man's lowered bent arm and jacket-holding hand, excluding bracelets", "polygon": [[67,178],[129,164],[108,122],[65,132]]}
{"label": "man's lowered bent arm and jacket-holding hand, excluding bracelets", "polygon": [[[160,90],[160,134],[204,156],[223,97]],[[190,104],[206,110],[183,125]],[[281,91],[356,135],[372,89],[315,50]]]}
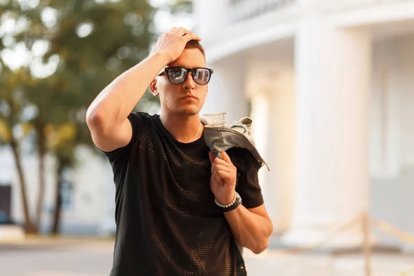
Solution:
{"label": "man's lowered bent arm and jacket-holding hand, excluding bracelets", "polygon": [[[222,159],[209,152],[211,161],[210,188],[219,204],[228,204],[233,200],[236,186],[237,168],[233,165],[228,154],[221,152]],[[239,245],[262,253],[269,244],[273,233],[273,224],[264,207],[245,208],[240,204],[235,210],[224,212],[230,229]]]}

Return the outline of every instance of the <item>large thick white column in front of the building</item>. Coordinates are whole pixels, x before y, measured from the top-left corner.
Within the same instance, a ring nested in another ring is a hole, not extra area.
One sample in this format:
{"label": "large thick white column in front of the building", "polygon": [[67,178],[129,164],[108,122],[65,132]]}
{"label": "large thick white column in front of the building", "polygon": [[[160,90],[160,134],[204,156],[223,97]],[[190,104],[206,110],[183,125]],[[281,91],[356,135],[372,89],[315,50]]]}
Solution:
{"label": "large thick white column in front of the building", "polygon": [[[310,15],[299,24],[295,68],[295,208],[283,240],[306,245],[368,208],[370,36]],[[355,246],[361,237],[357,227],[330,244]]]}

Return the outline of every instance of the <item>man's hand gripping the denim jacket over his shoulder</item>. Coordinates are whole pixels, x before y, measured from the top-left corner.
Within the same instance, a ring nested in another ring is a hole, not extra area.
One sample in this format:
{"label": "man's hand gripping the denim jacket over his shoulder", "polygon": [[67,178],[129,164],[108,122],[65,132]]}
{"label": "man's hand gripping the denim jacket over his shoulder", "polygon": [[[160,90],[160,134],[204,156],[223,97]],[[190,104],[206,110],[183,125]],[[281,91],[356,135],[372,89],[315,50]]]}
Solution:
{"label": "man's hand gripping the denim jacket over his shoulder", "polygon": [[221,158],[208,152],[211,162],[210,189],[219,204],[229,204],[235,195],[237,168],[225,151]]}

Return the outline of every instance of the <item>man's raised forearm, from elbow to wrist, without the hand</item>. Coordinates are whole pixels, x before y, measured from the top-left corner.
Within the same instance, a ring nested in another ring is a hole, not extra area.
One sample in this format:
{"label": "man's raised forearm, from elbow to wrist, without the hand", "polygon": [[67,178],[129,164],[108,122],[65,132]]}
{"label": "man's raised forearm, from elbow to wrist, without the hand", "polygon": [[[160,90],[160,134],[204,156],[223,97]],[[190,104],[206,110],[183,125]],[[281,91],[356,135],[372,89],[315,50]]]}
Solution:
{"label": "man's raised forearm, from elbow to wrist, without the hand", "polygon": [[166,55],[157,53],[119,75],[91,103],[87,116],[108,127],[121,124],[166,62]]}

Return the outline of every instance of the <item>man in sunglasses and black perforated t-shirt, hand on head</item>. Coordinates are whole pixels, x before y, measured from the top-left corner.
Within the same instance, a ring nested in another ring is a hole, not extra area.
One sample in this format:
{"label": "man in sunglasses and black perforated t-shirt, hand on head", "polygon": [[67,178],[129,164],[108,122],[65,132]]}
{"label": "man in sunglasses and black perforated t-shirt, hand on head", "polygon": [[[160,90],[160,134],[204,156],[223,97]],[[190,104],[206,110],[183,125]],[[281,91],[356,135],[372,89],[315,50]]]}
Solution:
{"label": "man in sunglasses and black perforated t-shirt, hand on head", "polygon": [[[237,244],[256,254],[268,246],[273,224],[256,160],[242,148],[216,158],[203,137],[199,111],[213,70],[200,40],[184,28],[162,34],[88,108],[116,185],[111,276],[246,275]],[[148,86],[160,115],[132,112]]]}

